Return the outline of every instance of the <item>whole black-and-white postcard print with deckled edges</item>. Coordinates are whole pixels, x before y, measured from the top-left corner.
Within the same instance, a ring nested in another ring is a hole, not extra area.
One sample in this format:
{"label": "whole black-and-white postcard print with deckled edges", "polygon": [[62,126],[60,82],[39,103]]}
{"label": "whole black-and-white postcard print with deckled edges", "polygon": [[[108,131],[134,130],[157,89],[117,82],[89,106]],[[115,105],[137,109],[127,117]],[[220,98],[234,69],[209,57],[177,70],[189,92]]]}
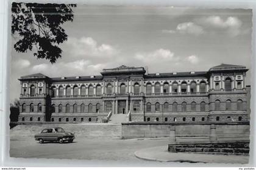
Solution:
{"label": "whole black-and-white postcard print with deckled edges", "polygon": [[252,9],[10,7],[10,157],[249,163]]}

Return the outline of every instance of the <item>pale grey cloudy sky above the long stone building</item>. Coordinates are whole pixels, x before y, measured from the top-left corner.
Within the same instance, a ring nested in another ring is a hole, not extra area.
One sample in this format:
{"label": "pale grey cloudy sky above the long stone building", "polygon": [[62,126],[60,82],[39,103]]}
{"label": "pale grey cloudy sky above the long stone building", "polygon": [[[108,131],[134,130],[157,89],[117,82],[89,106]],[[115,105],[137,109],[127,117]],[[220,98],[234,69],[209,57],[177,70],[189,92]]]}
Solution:
{"label": "pale grey cloudy sky above the long stone building", "polygon": [[[20,97],[18,78],[100,75],[104,68],[147,66],[149,73],[207,71],[227,63],[251,69],[252,10],[157,6],[77,5],[62,25],[68,41],[51,64],[13,49],[10,102]],[[247,85],[251,73],[247,72]]]}

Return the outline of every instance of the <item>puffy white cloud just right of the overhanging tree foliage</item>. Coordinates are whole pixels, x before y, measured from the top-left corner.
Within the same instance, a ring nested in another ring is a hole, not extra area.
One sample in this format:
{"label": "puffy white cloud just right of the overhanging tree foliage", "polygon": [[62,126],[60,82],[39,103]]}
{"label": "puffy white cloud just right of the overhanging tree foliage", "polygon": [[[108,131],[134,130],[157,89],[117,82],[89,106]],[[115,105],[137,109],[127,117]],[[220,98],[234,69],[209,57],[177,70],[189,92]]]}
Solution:
{"label": "puffy white cloud just right of the overhanging tree foliage", "polygon": [[91,37],[70,37],[66,44],[71,48],[69,52],[74,56],[112,57],[118,53],[118,50],[110,44],[98,44]]}

